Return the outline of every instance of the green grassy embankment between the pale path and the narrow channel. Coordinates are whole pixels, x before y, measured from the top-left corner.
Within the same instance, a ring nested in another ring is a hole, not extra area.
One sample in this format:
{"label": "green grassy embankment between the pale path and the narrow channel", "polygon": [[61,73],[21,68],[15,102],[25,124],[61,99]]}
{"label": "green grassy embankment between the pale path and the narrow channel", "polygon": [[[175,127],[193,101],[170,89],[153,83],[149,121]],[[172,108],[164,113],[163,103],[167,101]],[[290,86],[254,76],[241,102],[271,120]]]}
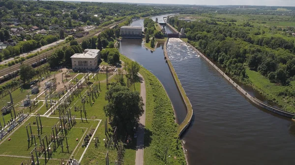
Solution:
{"label": "green grassy embankment between the pale path and the narrow channel", "polygon": [[[129,61],[121,55],[124,62]],[[144,67],[140,73],[146,81],[146,127],[145,127],[145,165],[165,164],[186,165],[180,140],[177,141],[177,123],[170,99],[159,80]],[[170,157],[169,157],[170,156]]]}

